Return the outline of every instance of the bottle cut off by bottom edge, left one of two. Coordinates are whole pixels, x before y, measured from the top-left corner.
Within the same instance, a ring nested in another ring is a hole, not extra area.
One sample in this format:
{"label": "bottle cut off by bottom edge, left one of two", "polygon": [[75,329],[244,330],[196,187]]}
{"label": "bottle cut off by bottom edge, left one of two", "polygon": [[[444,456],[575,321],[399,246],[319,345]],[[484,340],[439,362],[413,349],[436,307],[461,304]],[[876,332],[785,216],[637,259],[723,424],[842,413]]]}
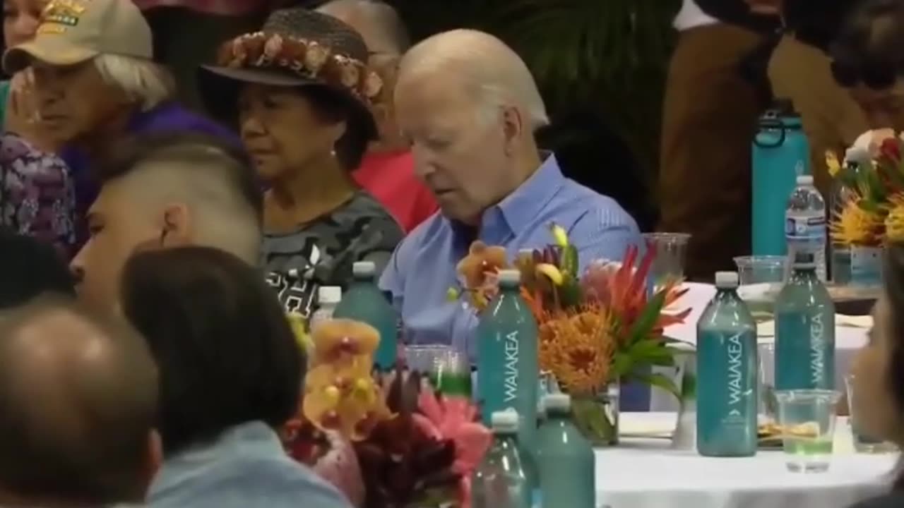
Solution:
{"label": "bottle cut off by bottom edge, left one of two", "polygon": [[518,413],[496,411],[491,420],[493,444],[471,476],[471,507],[532,508],[535,468],[518,446]]}

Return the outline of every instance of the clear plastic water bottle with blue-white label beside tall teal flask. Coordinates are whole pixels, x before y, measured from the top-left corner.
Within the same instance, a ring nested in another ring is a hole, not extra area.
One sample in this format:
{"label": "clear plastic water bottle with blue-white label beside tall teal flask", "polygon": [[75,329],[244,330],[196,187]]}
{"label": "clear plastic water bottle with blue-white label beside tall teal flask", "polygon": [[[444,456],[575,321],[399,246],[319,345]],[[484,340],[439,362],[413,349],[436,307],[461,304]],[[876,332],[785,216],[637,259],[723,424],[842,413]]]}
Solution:
{"label": "clear plastic water bottle with blue-white label beside tall teal flask", "polygon": [[813,185],[813,176],[797,177],[797,186],[785,209],[785,240],[788,259],[797,252],[814,254],[816,274],[825,282],[825,200]]}

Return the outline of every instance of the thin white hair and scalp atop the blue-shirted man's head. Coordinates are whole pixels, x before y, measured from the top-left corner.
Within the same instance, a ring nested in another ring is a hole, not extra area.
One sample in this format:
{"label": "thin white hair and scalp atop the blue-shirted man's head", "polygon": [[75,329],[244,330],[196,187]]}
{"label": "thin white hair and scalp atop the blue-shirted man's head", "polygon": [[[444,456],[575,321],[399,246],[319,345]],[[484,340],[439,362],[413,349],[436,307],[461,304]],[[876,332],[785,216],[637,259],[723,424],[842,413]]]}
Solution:
{"label": "thin white hair and scalp atop the blue-shirted man's head", "polygon": [[481,108],[482,118],[498,108],[518,108],[532,131],[549,125],[546,105],[527,64],[493,35],[458,29],[438,33],[416,44],[402,57],[400,80],[406,75],[437,71],[457,73],[466,80]]}

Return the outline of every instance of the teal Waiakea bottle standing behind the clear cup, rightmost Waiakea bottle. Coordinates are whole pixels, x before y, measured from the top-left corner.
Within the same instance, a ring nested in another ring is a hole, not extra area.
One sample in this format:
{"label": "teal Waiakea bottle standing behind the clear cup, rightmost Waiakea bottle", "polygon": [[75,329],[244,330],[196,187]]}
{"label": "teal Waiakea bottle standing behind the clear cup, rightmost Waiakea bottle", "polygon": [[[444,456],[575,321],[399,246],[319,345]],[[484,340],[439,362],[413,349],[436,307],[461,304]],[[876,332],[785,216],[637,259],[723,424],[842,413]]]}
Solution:
{"label": "teal Waiakea bottle standing behind the clear cup, rightmost Waiakea bottle", "polygon": [[776,299],[776,390],[834,390],[835,306],[816,275],[815,256],[798,252]]}

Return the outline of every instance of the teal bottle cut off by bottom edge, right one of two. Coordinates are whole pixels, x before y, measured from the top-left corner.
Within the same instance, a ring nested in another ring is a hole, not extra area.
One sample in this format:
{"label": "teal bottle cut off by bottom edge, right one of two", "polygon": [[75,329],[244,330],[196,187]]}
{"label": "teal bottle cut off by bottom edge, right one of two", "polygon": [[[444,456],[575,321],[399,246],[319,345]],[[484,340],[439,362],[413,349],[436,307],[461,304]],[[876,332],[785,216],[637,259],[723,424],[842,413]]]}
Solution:
{"label": "teal bottle cut off by bottom edge, right one of two", "polygon": [[537,433],[536,462],[542,508],[594,508],[597,498],[593,447],[571,419],[571,398],[543,398],[546,421]]}

